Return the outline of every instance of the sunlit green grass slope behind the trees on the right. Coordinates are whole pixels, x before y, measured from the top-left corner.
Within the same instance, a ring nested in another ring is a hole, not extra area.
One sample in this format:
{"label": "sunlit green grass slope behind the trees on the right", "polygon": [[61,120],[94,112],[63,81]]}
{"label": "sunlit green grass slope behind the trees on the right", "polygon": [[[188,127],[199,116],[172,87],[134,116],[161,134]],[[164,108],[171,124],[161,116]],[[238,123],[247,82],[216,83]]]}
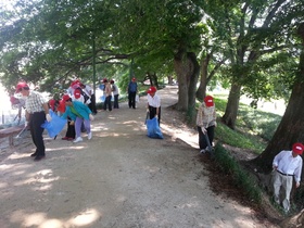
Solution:
{"label": "sunlit green grass slope behind the trees on the right", "polygon": [[214,97],[218,118],[215,138],[232,147],[248,149],[257,154],[262,153],[274,136],[281,116],[240,103],[236,130],[232,130],[220,122],[226,110],[227,97]]}

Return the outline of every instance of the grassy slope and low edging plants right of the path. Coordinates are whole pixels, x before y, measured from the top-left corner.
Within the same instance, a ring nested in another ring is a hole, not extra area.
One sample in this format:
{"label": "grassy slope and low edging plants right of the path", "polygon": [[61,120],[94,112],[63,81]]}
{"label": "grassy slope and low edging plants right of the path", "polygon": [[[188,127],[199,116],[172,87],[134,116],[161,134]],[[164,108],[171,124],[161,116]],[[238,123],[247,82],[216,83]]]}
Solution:
{"label": "grassy slope and low edging plants right of the path", "polygon": [[[236,130],[232,130],[220,121],[227,98],[216,94],[214,98],[218,116],[215,128],[217,143],[211,162],[216,166],[216,169],[223,173],[223,176],[227,178],[229,176],[231,185],[239,189],[242,195],[245,195],[249,203],[261,205],[263,203],[263,189],[257,179],[225,149],[224,144],[243,150],[243,153],[252,152],[258,155],[267,145],[268,140],[271,139],[281,116],[240,103],[237,127]],[[200,102],[198,101],[197,105]]]}

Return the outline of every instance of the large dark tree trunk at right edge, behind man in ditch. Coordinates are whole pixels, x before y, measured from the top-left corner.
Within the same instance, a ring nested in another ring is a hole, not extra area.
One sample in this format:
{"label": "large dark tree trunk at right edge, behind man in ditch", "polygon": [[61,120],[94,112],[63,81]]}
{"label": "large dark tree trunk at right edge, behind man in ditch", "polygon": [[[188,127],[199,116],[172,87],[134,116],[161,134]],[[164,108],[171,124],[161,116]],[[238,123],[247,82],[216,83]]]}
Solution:
{"label": "large dark tree trunk at right edge, behind man in ditch", "polygon": [[[299,35],[303,39],[304,48],[304,24],[299,27]],[[304,143],[304,50],[300,56],[300,73],[292,88],[292,93],[286,109],[286,113],[267,148],[255,159],[264,170],[271,169],[271,163],[281,150],[290,150],[294,142]],[[303,173],[303,170],[302,170]]]}

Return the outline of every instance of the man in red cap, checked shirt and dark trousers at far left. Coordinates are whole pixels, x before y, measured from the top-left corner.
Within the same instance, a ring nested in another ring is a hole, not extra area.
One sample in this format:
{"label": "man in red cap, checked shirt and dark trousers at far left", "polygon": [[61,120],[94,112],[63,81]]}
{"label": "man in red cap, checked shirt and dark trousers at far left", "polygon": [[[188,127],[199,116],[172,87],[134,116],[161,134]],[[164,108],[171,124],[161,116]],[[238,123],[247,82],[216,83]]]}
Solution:
{"label": "man in red cap, checked shirt and dark trousers at far left", "polygon": [[43,130],[41,125],[47,119],[51,122],[51,116],[49,113],[48,100],[43,98],[42,94],[36,91],[30,91],[26,83],[18,83],[16,86],[16,92],[21,92],[25,100],[25,127],[28,125],[31,139],[36,145],[35,153],[30,154],[34,156],[34,161],[40,161],[46,156],[46,147],[43,142]]}

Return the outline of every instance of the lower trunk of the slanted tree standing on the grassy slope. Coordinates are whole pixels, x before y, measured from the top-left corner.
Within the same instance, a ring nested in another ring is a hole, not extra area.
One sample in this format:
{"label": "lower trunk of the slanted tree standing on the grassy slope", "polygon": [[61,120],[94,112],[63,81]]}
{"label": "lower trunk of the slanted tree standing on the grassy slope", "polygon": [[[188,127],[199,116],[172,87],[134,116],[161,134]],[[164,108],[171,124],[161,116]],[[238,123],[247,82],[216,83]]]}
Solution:
{"label": "lower trunk of the slanted tree standing on the grassy slope", "polygon": [[242,87],[239,84],[232,84],[226,105],[226,111],[224,116],[221,117],[221,121],[231,129],[236,128],[241,88]]}

